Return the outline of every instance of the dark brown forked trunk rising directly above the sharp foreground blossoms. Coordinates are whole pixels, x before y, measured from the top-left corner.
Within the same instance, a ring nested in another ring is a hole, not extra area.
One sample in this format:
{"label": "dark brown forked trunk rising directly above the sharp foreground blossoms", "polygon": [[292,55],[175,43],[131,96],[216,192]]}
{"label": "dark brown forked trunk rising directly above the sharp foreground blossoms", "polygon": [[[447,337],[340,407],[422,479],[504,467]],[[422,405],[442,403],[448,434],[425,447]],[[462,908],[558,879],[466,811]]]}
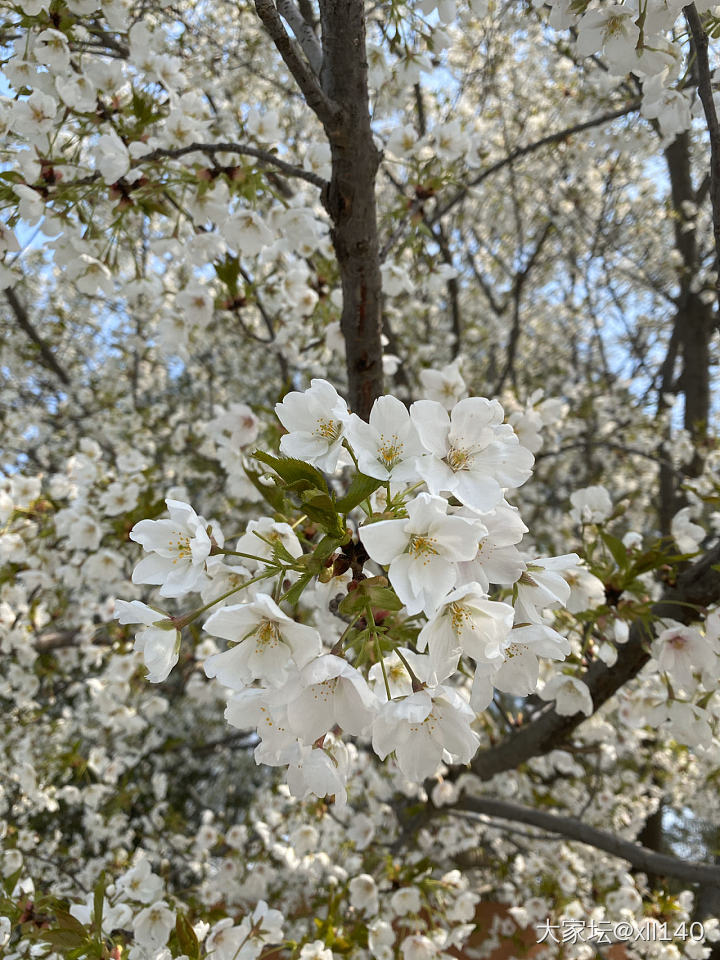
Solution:
{"label": "dark brown forked trunk rising directly above the sharp foreground blossoms", "polygon": [[[382,283],[375,208],[380,154],[370,126],[363,0],[320,0],[321,42],[294,0],[255,9],[330,143],[332,175],[322,201],[332,220],[343,292],[350,406],[367,418],[383,392]],[[291,24],[293,40],[280,19]]]}

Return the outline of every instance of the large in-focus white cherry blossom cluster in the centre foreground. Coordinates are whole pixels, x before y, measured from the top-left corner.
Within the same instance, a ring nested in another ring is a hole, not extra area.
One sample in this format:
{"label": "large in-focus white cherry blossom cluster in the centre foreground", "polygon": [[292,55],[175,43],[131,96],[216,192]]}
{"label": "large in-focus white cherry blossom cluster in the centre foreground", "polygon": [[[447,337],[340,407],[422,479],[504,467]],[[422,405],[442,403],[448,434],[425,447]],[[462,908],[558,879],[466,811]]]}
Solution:
{"label": "large in-focus white cherry blossom cluster in the centre foreground", "polygon": [[[578,557],[523,558],[527,528],[505,499],[530,476],[532,454],[500,404],[481,397],[448,411],[432,400],[408,410],[384,396],[365,422],[328,382],[313,380],[276,412],[287,459],[257,457],[280,477],[303,465],[301,482],[317,485],[303,491],[306,514],[316,516],[311,506],[321,501],[332,508],[317,514],[326,535],[318,541],[306,530],[301,541],[302,519],[290,525],[276,515],[250,521],[228,549],[217,522],[170,499],[170,519],[135,524],[130,537],[147,556],[133,581],[157,585],[161,597],[200,593],[205,601],[175,617],[117,602],[122,623],[143,627],[136,649],[148,678],[164,680],[182,628],[222,604],[203,629],[228,648],[206,659],[205,672],[228,690],[228,722],[257,730],[257,762],[287,765],[294,794],[344,801],[346,747],[339,737],[326,741],[331,732],[368,738],[411,781],[442,762],[468,763],[481,743],[476,716],[494,691],[531,693],[539,658],[570,652],[547,611],[570,597],[563,574]],[[321,493],[316,468],[339,473],[336,483],[349,472],[350,490],[359,483],[364,495],[344,506]],[[311,611],[298,614],[291,608],[302,606],[305,589]],[[241,590],[242,602],[226,602]],[[574,678],[558,676],[544,695],[561,711],[592,712]]]}

